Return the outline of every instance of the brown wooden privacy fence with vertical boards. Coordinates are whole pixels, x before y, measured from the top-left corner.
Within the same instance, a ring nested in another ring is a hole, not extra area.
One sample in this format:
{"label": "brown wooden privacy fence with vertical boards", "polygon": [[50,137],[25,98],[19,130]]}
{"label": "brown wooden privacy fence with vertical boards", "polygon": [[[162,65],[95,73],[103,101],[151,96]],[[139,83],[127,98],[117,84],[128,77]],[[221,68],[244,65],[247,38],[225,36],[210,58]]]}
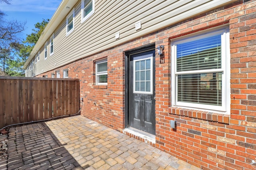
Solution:
{"label": "brown wooden privacy fence with vertical boards", "polygon": [[79,109],[78,79],[0,76],[0,129],[72,115]]}

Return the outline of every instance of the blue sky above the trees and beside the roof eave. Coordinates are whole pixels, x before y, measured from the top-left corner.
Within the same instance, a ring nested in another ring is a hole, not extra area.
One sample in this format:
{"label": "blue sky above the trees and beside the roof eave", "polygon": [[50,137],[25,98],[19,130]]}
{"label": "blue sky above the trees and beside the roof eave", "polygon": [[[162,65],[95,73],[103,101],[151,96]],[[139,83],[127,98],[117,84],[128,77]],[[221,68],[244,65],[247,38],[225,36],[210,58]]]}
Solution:
{"label": "blue sky above the trees and beside the roof eave", "polygon": [[34,25],[43,19],[50,19],[62,0],[10,0],[10,5],[0,3],[0,10],[6,14],[4,20],[26,21],[22,39],[32,33]]}

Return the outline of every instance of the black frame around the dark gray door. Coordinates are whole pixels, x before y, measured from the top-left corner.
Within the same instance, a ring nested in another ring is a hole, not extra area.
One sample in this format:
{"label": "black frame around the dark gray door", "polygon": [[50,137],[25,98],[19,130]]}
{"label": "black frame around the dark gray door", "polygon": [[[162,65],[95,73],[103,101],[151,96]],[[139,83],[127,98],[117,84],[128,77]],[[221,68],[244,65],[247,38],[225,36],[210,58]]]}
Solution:
{"label": "black frame around the dark gray door", "polygon": [[[132,54],[136,54],[136,53],[142,53],[144,51],[149,51],[152,49],[155,49],[156,45],[154,44],[149,44],[146,46],[142,46],[140,48],[137,49],[132,49],[130,51],[125,51],[125,62],[124,62],[124,70],[125,70],[125,74],[124,74],[124,79],[125,79],[125,94],[124,94],[124,121],[125,121],[125,128],[130,127],[129,125],[129,55]],[[155,58],[154,58],[155,59]],[[155,67],[155,65],[153,65]],[[155,76],[156,72],[152,73],[153,76]],[[154,82],[153,86],[156,85],[156,82]],[[154,92],[153,92],[154,93]]]}

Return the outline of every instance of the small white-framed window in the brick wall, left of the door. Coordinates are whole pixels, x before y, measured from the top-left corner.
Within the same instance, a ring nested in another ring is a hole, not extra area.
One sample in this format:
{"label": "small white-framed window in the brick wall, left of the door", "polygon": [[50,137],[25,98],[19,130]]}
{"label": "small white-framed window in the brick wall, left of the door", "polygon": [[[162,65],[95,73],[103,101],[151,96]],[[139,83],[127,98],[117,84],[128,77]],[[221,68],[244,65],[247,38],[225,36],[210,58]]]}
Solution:
{"label": "small white-framed window in the brick wall, left of the door", "polygon": [[101,60],[96,62],[96,84],[106,85],[108,84],[108,63],[107,60]]}

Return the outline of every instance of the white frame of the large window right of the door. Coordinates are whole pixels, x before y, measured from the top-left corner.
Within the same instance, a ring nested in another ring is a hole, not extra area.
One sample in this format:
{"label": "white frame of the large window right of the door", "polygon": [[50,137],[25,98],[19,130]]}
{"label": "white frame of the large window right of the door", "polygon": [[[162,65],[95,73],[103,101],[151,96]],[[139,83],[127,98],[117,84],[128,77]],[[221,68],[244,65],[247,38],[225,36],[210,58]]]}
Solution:
{"label": "white frame of the large window right of the door", "polygon": [[[190,70],[190,71],[176,71],[176,45],[203,39],[206,37],[221,34],[221,68],[216,69],[204,69],[204,70]],[[187,35],[182,38],[174,39],[171,43],[171,58],[172,58],[172,106],[194,108],[203,111],[215,111],[220,113],[227,113],[230,110],[230,42],[229,42],[229,28],[213,28]],[[196,104],[189,102],[178,102],[178,74],[200,74],[208,72],[222,72],[222,105],[210,105],[210,104]]]}

